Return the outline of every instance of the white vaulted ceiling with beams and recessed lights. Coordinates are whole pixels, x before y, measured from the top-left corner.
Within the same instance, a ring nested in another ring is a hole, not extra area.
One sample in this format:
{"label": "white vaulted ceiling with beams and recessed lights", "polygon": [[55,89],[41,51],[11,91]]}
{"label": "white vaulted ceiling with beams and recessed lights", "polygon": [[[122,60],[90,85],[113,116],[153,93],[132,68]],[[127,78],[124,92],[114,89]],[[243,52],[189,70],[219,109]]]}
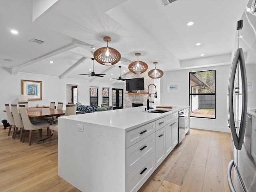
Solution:
{"label": "white vaulted ceiling with beams and recessed lights", "polygon": [[[197,67],[182,65],[195,59],[211,58],[210,66],[220,64],[212,59],[218,56],[231,62],[236,22],[248,0],[176,0],[166,6],[161,0],[53,0],[39,13],[40,2],[46,1],[0,0],[0,66],[10,74],[118,82],[110,78],[119,77],[118,66],[121,76],[128,72],[136,52],[149,69],[158,62],[163,71]],[[39,16],[33,21],[35,13]],[[187,26],[190,21],[194,25]],[[92,47],[106,46],[104,36],[112,38],[108,46],[120,52],[121,61],[114,66],[94,61],[94,72],[104,78],[79,75],[91,72]]]}

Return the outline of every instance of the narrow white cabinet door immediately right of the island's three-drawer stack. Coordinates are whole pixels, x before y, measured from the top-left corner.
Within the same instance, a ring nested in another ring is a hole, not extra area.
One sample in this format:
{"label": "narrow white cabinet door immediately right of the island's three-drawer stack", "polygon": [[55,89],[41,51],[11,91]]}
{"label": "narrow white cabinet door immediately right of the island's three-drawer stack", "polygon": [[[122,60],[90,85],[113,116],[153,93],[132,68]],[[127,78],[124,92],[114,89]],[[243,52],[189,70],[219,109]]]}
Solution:
{"label": "narrow white cabinet door immediately right of the island's three-drawer stack", "polygon": [[156,143],[156,167],[158,167],[165,158],[165,127],[156,131],[155,143]]}

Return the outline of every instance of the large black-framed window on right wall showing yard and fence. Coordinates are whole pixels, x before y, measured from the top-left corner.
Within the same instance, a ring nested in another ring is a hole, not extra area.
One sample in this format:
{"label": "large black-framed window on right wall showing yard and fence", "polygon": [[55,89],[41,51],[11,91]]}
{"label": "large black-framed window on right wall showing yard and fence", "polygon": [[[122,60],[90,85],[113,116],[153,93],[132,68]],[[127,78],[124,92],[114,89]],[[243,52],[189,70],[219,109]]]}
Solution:
{"label": "large black-framed window on right wall showing yard and fence", "polygon": [[189,73],[190,117],[215,119],[215,72]]}

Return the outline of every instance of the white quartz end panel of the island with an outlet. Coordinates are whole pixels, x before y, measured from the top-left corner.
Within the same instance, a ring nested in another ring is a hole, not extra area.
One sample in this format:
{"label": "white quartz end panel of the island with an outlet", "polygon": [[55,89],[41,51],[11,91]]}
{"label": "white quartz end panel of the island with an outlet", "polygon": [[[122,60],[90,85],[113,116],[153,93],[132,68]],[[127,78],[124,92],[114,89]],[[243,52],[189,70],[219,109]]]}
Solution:
{"label": "white quartz end panel of the island with an outlet", "polygon": [[125,130],[58,118],[58,175],[83,192],[125,191]]}

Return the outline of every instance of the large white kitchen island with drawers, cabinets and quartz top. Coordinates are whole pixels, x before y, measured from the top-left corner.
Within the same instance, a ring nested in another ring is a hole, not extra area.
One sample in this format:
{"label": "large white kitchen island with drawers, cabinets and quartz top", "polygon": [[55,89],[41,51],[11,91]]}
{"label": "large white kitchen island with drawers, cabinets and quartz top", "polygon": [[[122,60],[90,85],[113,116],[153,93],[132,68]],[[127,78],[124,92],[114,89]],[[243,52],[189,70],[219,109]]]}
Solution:
{"label": "large white kitchen island with drawers, cabinets and quartz top", "polygon": [[58,175],[83,192],[137,191],[178,144],[178,111],[189,107],[144,108],[58,118]]}

